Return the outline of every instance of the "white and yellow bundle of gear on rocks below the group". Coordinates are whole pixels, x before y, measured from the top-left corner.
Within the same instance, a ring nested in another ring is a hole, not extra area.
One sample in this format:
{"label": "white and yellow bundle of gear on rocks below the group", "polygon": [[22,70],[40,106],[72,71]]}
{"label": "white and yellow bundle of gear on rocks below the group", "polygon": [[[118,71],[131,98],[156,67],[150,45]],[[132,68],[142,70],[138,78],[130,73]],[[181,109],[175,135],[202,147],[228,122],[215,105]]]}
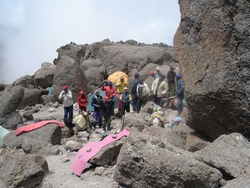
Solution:
{"label": "white and yellow bundle of gear on rocks below the group", "polygon": [[162,119],[162,109],[158,105],[155,105],[153,108],[153,113],[148,120],[148,125],[154,125],[164,128],[164,120]]}

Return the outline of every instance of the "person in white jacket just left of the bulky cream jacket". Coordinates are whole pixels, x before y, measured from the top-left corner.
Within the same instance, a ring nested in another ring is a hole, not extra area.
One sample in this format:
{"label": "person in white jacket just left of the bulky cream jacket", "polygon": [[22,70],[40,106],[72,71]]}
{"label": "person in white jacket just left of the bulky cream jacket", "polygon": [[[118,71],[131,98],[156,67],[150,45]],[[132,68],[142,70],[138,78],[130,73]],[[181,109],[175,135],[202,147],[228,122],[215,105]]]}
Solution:
{"label": "person in white jacket just left of the bulky cream jacket", "polygon": [[143,82],[142,78],[139,78],[139,83],[136,88],[137,93],[137,105],[136,105],[136,111],[139,114],[141,107],[143,107],[148,100],[148,94],[150,90],[148,88],[148,85]]}

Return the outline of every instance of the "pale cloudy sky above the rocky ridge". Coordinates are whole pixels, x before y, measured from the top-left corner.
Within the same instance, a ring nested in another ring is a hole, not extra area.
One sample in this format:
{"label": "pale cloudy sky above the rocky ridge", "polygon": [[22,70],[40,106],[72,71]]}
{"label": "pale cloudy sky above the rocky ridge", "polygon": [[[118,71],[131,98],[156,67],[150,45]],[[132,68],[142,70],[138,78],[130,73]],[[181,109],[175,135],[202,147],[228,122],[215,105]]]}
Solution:
{"label": "pale cloudy sky above the rocky ridge", "polygon": [[0,81],[33,75],[71,41],[173,45],[179,22],[178,0],[0,0]]}

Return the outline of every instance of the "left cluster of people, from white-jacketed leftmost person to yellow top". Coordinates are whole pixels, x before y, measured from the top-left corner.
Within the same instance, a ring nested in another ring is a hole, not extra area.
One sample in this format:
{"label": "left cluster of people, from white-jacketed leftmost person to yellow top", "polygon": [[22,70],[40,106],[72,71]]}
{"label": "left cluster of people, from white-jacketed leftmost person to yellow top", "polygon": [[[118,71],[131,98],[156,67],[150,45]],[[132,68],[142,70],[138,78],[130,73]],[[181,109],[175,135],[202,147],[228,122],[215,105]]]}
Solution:
{"label": "left cluster of people, from white-jacketed leftmost person to yellow top", "polygon": [[[105,80],[102,82],[102,86],[99,90],[95,90],[91,97],[91,106],[93,107],[93,117],[98,122],[99,127],[103,127],[105,131],[110,130],[111,117],[114,115],[114,97],[118,97],[118,111],[121,115],[125,111],[130,112],[131,95],[128,92],[128,83],[124,77],[116,83],[116,87],[113,86],[111,81]],[[100,90],[105,91],[105,96],[100,95]],[[64,105],[64,122],[72,121],[73,119],[73,97],[72,92],[68,86],[63,86],[63,91],[58,96],[63,100]],[[84,91],[80,91],[77,97],[77,104],[80,113],[87,111],[88,98]],[[96,125],[92,127],[96,128]]]}

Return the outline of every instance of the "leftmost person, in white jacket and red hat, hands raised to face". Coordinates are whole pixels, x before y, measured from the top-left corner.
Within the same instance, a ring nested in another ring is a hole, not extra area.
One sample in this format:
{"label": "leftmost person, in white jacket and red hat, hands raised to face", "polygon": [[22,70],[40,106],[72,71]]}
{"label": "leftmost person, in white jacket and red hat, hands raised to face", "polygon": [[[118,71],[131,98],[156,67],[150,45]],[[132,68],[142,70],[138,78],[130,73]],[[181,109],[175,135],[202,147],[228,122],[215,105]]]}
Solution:
{"label": "leftmost person, in white jacket and red hat, hands raised to face", "polygon": [[63,91],[58,96],[59,99],[63,99],[64,106],[64,119],[73,119],[73,98],[72,92],[68,86],[63,86]]}

